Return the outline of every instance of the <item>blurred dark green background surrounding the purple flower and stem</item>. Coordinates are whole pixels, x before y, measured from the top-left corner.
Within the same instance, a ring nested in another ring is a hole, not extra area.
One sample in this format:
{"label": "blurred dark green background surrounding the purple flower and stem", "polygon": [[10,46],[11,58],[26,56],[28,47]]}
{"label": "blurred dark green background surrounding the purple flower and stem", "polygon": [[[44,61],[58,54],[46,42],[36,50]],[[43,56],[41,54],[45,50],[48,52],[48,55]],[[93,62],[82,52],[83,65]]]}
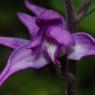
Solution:
{"label": "blurred dark green background surrounding the purple flower and stem", "polygon": [[[64,0],[30,0],[36,5],[58,11],[65,15]],[[74,0],[75,9],[82,0]],[[24,0],[0,0],[0,36],[28,38],[29,34],[19,21],[17,12],[31,14],[24,6]],[[78,24],[79,31],[95,37],[95,13]],[[0,46],[0,72],[3,70],[12,50]],[[95,57],[89,57],[77,64],[78,95],[95,95]],[[11,76],[0,87],[0,95],[64,95],[64,81],[58,80],[50,65],[43,69],[27,69]]]}

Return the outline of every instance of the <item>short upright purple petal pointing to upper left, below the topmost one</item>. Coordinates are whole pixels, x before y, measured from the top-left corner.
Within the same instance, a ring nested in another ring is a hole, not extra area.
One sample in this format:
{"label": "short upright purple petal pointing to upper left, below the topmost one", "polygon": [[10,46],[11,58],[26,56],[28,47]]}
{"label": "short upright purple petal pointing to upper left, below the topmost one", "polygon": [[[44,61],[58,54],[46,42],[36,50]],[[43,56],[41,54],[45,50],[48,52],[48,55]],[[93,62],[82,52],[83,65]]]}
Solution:
{"label": "short upright purple petal pointing to upper left, below the topmost one", "polygon": [[37,35],[37,32],[39,30],[39,27],[36,25],[36,18],[29,16],[25,13],[18,13],[17,14],[21,22],[28,28],[29,33],[31,36]]}

